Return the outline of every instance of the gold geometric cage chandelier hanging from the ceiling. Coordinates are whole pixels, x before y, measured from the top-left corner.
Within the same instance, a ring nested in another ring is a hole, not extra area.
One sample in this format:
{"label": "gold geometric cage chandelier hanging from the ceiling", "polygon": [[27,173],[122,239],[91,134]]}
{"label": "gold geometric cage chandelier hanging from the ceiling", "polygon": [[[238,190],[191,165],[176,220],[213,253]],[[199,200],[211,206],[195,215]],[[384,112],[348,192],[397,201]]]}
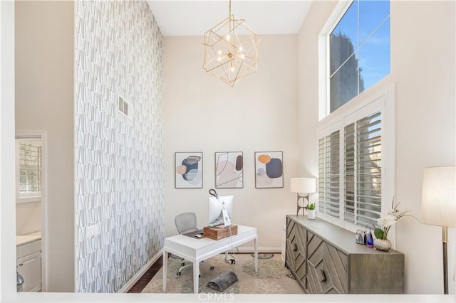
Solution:
{"label": "gold geometric cage chandelier hanging from the ceiling", "polygon": [[257,71],[260,40],[245,19],[231,14],[229,0],[229,17],[204,34],[204,70],[234,86],[239,79]]}

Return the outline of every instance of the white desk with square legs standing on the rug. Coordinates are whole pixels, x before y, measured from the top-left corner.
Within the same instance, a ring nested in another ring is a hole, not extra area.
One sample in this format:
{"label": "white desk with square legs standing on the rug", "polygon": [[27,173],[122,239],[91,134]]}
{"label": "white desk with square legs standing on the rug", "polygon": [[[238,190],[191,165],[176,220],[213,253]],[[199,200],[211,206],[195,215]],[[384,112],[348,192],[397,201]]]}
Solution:
{"label": "white desk with square legs standing on the rug", "polygon": [[166,292],[168,253],[183,257],[193,263],[193,292],[198,293],[199,262],[226,252],[238,245],[254,241],[255,271],[258,272],[257,228],[237,225],[237,235],[221,240],[190,238],[187,235],[173,235],[165,238],[163,246],[163,292]]}

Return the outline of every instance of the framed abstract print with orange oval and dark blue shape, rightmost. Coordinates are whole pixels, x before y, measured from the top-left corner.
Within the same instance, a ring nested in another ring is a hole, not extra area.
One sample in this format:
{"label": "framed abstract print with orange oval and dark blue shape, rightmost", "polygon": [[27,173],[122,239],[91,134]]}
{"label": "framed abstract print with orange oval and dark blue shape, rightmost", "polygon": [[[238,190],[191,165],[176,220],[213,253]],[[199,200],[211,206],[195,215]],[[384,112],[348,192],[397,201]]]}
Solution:
{"label": "framed abstract print with orange oval and dark blue shape, rightmost", "polygon": [[255,188],[284,187],[282,151],[255,151]]}

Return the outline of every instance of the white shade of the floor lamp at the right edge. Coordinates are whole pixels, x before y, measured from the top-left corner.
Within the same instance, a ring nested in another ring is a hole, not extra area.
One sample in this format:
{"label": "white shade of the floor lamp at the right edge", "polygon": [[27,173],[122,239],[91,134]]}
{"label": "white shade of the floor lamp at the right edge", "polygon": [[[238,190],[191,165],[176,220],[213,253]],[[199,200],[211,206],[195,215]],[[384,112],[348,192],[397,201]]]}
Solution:
{"label": "white shade of the floor lamp at the right edge", "polygon": [[456,166],[425,168],[421,222],[456,227]]}

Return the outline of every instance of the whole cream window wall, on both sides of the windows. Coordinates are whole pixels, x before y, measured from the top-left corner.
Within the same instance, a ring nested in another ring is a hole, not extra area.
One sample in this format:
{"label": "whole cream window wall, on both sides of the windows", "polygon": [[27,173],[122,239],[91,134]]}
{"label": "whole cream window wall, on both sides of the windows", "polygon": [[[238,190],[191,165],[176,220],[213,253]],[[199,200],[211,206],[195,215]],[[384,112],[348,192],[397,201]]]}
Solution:
{"label": "whole cream window wall, on both sides of the windows", "polygon": [[[318,33],[336,2],[317,1],[299,33],[300,169],[317,173]],[[420,216],[426,166],[454,166],[455,2],[391,1],[391,74],[376,87],[396,85],[396,185],[401,209]],[[375,90],[375,87],[372,87]],[[372,90],[366,90],[369,93]],[[455,228],[449,230],[450,294],[455,269]],[[405,254],[405,292],[443,292],[441,228],[403,218],[396,249]]]}

